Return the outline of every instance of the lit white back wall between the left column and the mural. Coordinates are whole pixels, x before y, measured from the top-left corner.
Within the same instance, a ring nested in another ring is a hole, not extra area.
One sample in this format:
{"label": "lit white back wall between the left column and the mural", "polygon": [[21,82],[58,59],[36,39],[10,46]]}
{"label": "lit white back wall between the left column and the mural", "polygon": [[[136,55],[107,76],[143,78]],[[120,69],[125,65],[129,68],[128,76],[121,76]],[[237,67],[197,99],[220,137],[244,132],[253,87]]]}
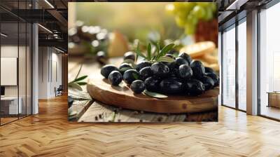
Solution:
{"label": "lit white back wall between the left column and the mural", "polygon": [[50,47],[39,47],[38,51],[38,98],[49,99],[55,97],[55,88],[62,84],[62,55]]}

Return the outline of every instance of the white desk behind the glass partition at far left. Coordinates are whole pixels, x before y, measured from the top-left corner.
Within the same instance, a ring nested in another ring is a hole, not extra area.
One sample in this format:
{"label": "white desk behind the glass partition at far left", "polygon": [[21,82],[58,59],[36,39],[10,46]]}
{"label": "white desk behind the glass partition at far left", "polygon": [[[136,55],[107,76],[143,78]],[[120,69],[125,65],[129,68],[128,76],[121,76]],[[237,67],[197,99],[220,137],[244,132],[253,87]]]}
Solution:
{"label": "white desk behind the glass partition at far left", "polygon": [[22,97],[1,97],[1,107],[8,107],[6,114],[22,114]]}

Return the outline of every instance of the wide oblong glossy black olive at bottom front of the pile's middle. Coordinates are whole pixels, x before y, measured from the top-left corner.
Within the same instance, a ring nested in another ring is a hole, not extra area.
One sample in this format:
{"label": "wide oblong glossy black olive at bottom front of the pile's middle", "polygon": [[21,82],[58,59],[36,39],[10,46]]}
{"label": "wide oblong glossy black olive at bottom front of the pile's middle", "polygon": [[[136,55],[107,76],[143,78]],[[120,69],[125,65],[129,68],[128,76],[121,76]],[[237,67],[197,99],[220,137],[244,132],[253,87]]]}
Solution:
{"label": "wide oblong glossy black olive at bottom front of the pile's middle", "polygon": [[160,92],[166,94],[180,94],[183,91],[183,82],[179,78],[165,78],[160,82]]}

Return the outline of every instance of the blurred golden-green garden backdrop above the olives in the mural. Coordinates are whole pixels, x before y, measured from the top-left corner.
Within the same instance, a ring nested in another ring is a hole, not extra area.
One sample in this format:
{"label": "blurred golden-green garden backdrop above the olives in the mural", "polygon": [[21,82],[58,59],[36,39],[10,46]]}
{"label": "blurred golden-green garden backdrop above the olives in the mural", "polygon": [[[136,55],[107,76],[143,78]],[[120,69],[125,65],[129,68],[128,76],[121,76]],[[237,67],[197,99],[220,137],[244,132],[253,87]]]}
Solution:
{"label": "blurred golden-green garden backdrop above the olives in the mural", "polygon": [[[212,2],[69,2],[69,57],[100,61],[99,55],[123,56],[136,43],[144,53],[148,43],[175,43],[178,52],[199,41],[212,41],[217,47],[217,16]],[[211,55],[209,63],[209,57],[198,59],[218,71],[217,50]]]}

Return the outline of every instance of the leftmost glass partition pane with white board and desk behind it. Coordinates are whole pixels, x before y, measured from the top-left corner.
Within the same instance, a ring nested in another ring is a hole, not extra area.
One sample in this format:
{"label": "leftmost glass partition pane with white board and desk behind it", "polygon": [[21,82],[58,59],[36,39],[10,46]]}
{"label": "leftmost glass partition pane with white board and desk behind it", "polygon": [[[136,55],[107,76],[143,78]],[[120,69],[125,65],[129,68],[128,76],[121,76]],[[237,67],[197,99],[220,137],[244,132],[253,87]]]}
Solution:
{"label": "leftmost glass partition pane with white board and desk behind it", "polygon": [[1,23],[1,124],[21,114],[18,100],[18,22]]}

